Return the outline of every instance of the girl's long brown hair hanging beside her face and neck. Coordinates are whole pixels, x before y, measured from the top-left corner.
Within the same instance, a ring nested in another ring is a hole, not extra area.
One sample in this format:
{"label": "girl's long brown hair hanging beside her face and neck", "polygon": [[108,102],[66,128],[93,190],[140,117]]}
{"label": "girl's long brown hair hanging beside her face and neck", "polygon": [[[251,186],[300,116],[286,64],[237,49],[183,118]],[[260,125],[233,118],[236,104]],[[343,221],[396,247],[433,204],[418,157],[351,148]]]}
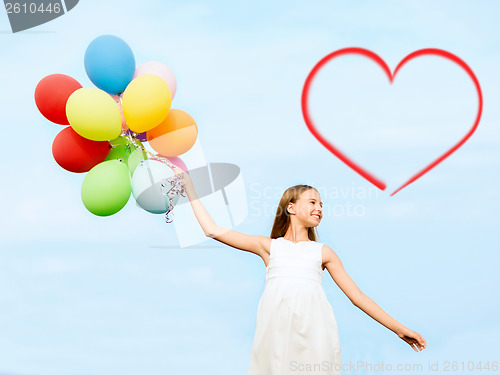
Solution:
{"label": "girl's long brown hair hanging beside her face and neck", "polygon": [[[278,209],[276,210],[273,229],[271,229],[271,238],[283,237],[285,235],[291,223],[290,214],[287,211],[288,204],[290,202],[297,202],[297,200],[300,198],[300,195],[309,189],[316,190],[314,187],[309,185],[295,185],[285,190],[283,196],[280,199],[280,203],[278,204]],[[311,241],[316,241],[318,237],[316,227],[309,227],[307,229],[307,237],[309,237]]]}

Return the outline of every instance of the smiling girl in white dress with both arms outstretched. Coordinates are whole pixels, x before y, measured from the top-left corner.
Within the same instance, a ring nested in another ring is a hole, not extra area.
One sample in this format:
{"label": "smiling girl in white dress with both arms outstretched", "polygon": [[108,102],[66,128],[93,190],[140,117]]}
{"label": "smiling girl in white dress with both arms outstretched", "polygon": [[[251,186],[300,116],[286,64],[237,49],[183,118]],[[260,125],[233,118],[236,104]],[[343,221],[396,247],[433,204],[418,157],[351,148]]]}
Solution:
{"label": "smiling girl in white dress with both arms outstretched", "polygon": [[318,191],[288,188],[281,197],[271,236],[219,227],[202,205],[192,180],[180,168],[194,214],[208,237],[249,251],[266,265],[266,286],[257,308],[249,375],[340,374],[340,343],[333,309],[322,288],[325,268],[354,306],[406,341],[416,352],[427,346],[365,295],[344,270],[337,254],[316,242],[323,217]]}

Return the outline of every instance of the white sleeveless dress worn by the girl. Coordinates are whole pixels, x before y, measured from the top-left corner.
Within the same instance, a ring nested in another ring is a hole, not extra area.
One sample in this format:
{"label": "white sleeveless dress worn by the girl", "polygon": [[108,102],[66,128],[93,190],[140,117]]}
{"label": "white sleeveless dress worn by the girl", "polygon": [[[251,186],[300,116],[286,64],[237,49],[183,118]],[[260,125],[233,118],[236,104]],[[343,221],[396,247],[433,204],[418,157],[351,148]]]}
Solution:
{"label": "white sleeveless dress worn by the girl", "polygon": [[271,240],[249,375],[338,375],[340,341],[323,290],[322,243]]}

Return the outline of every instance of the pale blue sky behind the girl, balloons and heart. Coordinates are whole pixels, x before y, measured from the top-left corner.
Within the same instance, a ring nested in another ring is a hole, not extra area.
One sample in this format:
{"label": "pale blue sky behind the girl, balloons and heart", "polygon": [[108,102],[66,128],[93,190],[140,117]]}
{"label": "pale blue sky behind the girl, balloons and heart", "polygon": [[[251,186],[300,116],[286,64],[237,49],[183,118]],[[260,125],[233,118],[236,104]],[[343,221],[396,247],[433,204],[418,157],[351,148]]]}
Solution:
{"label": "pale blue sky behind the girl, balloons and heart", "polygon": [[[62,127],[38,113],[34,88],[52,73],[92,86],[83,55],[103,34],[124,39],[138,63],[170,66],[178,84],[172,107],[197,121],[206,160],[241,168],[248,217],[236,230],[269,235],[282,192],[317,187],[320,242],[365,294],[428,343],[415,353],[351,305],[325,272],[344,362],[422,363],[427,373],[429,361],[442,369],[446,361],[498,360],[499,7],[81,0],[17,34],[2,13],[0,373],[248,371],[262,260],[210,239],[180,248],[172,224],[132,200],[95,217],[80,200],[84,176],[52,158]],[[392,87],[362,58],[322,71],[311,95],[318,128],[386,180],[380,191],[316,141],[300,109],[312,67],[351,46],[391,69],[415,50],[444,49],[481,83],[474,135],[393,197],[470,128],[477,98],[460,69],[432,57],[407,64]]]}

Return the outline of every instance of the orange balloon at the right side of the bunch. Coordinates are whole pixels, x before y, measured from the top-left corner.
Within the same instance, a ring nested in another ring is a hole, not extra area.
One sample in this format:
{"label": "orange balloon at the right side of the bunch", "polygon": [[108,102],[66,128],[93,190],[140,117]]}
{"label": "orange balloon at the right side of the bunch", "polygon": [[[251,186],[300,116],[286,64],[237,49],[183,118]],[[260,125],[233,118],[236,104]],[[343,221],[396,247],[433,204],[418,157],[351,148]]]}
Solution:
{"label": "orange balloon at the right side of the bunch", "polygon": [[189,151],[198,137],[194,119],[180,109],[171,109],[160,125],[148,130],[150,146],[164,156],[179,156]]}

